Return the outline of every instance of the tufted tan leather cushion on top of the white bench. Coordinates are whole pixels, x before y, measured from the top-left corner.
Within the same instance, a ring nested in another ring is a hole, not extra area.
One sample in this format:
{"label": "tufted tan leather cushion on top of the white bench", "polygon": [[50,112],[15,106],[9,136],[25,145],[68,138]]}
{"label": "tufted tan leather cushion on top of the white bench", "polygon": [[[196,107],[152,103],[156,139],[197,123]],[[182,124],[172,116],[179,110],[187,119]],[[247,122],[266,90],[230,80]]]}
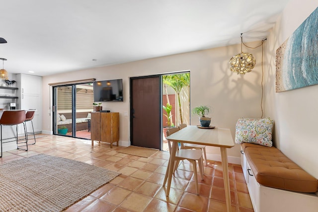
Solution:
{"label": "tufted tan leather cushion on top of the white bench", "polygon": [[318,191],[318,180],[276,147],[249,143],[242,148],[259,184],[296,192],[313,193]]}

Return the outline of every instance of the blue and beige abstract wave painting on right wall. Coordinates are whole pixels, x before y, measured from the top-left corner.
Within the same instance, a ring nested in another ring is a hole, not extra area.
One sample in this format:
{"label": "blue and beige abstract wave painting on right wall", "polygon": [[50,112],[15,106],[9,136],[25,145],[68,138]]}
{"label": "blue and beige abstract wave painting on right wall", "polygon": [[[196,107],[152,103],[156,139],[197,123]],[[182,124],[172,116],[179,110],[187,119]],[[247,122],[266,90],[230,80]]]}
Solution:
{"label": "blue and beige abstract wave painting on right wall", "polygon": [[276,50],[276,92],[318,84],[318,7]]}

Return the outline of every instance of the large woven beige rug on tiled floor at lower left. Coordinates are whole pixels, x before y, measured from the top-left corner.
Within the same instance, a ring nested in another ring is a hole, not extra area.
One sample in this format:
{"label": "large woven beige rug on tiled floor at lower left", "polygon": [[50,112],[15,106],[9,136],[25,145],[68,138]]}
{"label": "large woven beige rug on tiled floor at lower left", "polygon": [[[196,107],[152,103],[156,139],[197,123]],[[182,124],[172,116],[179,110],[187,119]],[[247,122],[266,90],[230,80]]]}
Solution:
{"label": "large woven beige rug on tiled floor at lower left", "polygon": [[120,175],[45,154],[0,165],[1,212],[61,212]]}

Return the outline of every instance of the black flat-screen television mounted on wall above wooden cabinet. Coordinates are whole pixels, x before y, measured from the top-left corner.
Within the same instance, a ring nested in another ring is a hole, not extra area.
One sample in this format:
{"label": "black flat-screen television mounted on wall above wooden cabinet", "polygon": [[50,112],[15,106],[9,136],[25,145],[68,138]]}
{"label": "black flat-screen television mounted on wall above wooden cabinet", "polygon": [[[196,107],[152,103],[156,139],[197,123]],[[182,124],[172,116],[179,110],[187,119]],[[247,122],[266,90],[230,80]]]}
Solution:
{"label": "black flat-screen television mounted on wall above wooden cabinet", "polygon": [[122,102],[123,79],[93,82],[94,102]]}

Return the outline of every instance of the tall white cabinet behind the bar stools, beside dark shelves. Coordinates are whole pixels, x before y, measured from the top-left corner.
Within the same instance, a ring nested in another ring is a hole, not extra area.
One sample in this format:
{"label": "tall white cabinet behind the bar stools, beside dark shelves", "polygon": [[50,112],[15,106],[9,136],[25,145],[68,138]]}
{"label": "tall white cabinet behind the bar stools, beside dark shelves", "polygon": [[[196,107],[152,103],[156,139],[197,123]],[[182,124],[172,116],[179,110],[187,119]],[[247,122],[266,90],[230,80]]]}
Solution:
{"label": "tall white cabinet behind the bar stools, beside dark shelves", "polygon": [[[19,88],[17,92],[17,108],[21,110],[35,109],[32,120],[34,132],[42,132],[42,77],[29,74],[16,74],[16,83]],[[23,133],[19,129],[19,133]],[[27,131],[32,132],[31,123],[27,123]]]}

